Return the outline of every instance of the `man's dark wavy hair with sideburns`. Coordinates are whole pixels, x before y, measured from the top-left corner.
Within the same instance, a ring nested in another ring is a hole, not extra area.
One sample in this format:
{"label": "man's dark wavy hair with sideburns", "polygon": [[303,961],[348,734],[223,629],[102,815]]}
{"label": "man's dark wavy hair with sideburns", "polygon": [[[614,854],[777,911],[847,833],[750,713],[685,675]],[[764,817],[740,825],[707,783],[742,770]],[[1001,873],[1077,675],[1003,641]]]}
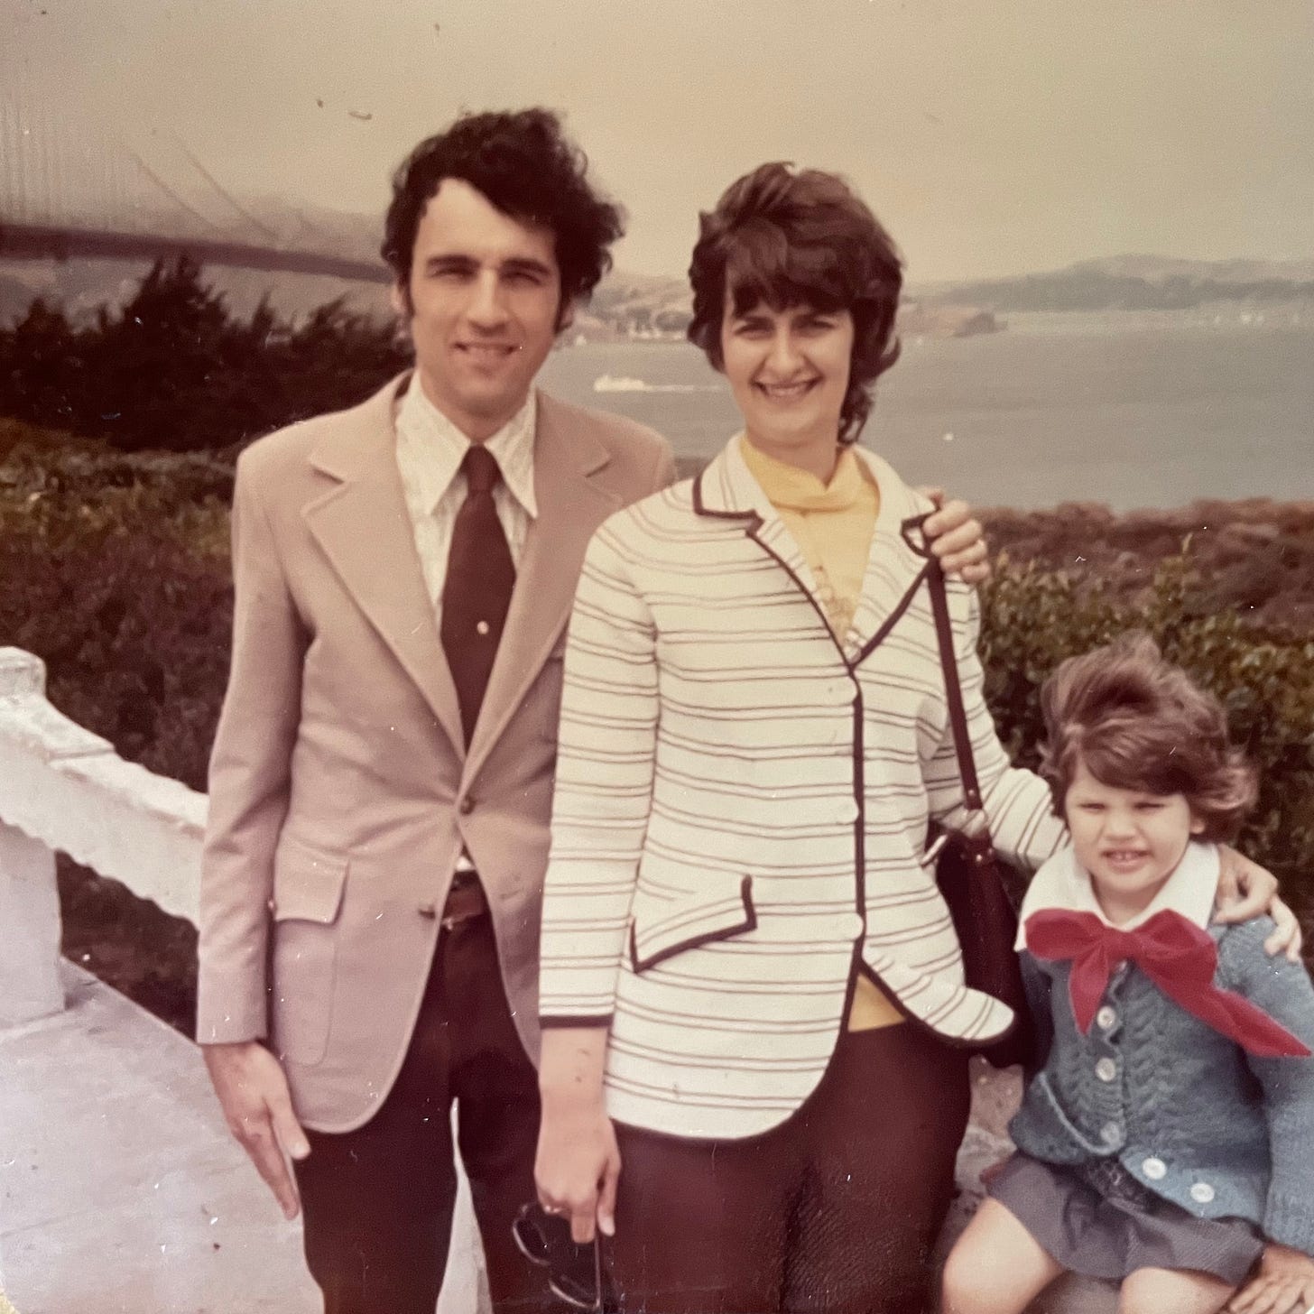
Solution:
{"label": "man's dark wavy hair with sideburns", "polygon": [[587,301],[611,268],[607,248],[624,231],[620,209],[593,189],[587,171],[583,151],[548,109],[464,114],[445,133],[426,138],[393,175],[380,247],[407,304],[415,234],[444,177],[469,183],[503,214],[553,234],[558,318],[573,302]]}

